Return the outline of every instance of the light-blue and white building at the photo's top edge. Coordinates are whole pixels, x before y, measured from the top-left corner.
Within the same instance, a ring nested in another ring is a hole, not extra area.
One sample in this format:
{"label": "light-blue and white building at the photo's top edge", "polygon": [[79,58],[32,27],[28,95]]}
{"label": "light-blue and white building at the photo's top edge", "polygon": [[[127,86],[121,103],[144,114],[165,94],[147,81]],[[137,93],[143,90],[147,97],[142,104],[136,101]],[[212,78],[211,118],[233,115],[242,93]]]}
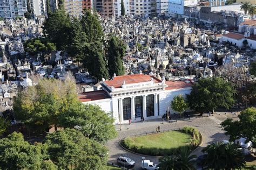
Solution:
{"label": "light-blue and white building at the photo's top edge", "polygon": [[171,16],[174,14],[184,15],[184,6],[197,5],[198,0],[169,0],[168,12]]}

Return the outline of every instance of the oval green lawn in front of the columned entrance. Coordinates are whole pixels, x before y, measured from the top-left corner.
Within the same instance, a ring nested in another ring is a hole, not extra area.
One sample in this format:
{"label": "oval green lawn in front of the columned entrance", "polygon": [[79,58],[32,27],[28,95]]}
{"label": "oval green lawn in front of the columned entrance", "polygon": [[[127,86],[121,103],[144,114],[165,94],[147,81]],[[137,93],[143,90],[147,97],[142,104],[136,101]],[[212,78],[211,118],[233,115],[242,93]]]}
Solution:
{"label": "oval green lawn in front of the columned entrance", "polygon": [[191,146],[192,136],[180,131],[126,138],[123,145],[133,151],[149,155],[170,154],[179,147]]}

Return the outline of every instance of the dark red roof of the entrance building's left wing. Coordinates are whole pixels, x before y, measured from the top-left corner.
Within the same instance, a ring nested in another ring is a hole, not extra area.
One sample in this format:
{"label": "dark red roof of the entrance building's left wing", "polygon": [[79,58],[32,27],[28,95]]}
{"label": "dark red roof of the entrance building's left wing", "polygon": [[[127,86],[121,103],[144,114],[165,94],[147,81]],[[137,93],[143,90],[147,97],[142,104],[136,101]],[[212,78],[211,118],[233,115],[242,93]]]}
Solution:
{"label": "dark red roof of the entrance building's left wing", "polygon": [[82,93],[78,96],[78,98],[80,102],[89,102],[89,101],[110,98],[110,96],[107,95],[106,91],[99,90],[99,91],[89,91],[89,92]]}

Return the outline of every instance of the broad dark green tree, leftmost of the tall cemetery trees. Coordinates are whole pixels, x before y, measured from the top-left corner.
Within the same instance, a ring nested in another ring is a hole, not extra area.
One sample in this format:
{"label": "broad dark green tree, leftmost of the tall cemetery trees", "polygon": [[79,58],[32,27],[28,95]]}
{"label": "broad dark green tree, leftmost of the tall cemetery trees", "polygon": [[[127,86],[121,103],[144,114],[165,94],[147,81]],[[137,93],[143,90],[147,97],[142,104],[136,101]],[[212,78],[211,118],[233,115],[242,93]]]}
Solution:
{"label": "broad dark green tree, leftmost of the tall cemetery trees", "polygon": [[57,50],[66,50],[70,42],[70,18],[58,9],[46,18],[43,33],[56,45]]}

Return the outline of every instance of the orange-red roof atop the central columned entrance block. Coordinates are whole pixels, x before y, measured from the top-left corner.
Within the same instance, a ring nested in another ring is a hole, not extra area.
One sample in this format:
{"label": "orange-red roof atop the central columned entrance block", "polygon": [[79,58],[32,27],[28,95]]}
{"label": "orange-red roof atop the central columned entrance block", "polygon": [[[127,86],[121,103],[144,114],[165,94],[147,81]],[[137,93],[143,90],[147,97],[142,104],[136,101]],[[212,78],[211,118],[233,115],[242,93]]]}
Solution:
{"label": "orange-red roof atop the central columned entrance block", "polygon": [[142,83],[142,82],[150,81],[151,77],[153,77],[153,80],[155,83],[161,82],[161,80],[157,79],[157,77],[154,77],[151,75],[132,74],[132,75],[116,76],[114,77],[114,80],[107,80],[105,81],[105,83],[107,84],[107,86],[120,88],[122,87],[122,84],[124,83],[124,81],[125,81],[125,84]]}

